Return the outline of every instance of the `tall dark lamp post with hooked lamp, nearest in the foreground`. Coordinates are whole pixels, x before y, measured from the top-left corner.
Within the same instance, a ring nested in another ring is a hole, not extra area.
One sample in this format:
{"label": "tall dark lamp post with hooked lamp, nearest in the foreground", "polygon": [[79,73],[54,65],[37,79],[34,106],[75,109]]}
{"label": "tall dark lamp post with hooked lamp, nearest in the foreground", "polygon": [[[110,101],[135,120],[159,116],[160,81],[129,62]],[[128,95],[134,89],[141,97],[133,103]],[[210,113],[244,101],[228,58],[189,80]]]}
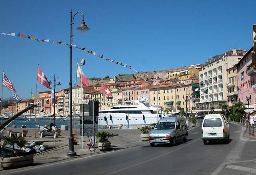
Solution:
{"label": "tall dark lamp post with hooked lamp, nearest in the foreground", "polygon": [[68,141],[69,150],[67,152],[68,157],[76,156],[76,152],[74,151],[74,138],[72,136],[72,40],[74,39],[74,17],[76,14],[82,14],[83,20],[81,22],[81,25],[77,27],[77,30],[80,30],[81,32],[85,32],[86,30],[90,30],[85,25],[84,22],[84,14],[82,12],[76,12],[72,18],[72,10],[70,10],[70,54],[69,54],[69,116],[70,116],[70,136]]}

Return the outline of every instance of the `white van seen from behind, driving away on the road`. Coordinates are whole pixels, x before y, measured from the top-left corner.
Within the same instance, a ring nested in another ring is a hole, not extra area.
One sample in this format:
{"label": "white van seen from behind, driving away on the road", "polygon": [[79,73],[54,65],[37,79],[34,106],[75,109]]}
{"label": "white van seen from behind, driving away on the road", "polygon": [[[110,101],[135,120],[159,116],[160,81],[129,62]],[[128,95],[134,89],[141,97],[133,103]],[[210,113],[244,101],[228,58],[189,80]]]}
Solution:
{"label": "white van seen from behind, driving away on the road", "polygon": [[223,140],[225,144],[229,142],[229,125],[223,114],[208,114],[202,123],[202,140],[204,145],[207,141]]}

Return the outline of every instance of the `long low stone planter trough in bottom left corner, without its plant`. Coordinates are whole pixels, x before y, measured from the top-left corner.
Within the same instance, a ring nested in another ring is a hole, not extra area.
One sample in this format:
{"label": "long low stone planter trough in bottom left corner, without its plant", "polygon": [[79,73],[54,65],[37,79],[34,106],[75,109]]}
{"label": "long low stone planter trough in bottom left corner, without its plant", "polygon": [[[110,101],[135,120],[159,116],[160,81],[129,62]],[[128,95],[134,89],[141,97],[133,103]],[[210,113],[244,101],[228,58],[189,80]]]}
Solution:
{"label": "long low stone planter trough in bottom left corner, without its plant", "polygon": [[2,157],[0,159],[1,167],[4,169],[10,169],[14,167],[24,167],[31,165],[34,162],[34,156],[31,155],[21,155],[16,157]]}

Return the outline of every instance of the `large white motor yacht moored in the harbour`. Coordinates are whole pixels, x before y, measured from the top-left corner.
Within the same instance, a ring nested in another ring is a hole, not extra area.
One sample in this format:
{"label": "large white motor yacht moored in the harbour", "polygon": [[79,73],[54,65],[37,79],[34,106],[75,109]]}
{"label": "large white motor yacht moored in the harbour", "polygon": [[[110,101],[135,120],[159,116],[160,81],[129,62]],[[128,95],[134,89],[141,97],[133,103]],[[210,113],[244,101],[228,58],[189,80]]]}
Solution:
{"label": "large white motor yacht moored in the harbour", "polygon": [[[161,116],[161,107],[158,107]],[[142,101],[125,101],[111,109],[101,110],[98,117],[98,125],[150,125],[156,123],[157,107],[150,107]],[[129,123],[128,123],[129,122]]]}

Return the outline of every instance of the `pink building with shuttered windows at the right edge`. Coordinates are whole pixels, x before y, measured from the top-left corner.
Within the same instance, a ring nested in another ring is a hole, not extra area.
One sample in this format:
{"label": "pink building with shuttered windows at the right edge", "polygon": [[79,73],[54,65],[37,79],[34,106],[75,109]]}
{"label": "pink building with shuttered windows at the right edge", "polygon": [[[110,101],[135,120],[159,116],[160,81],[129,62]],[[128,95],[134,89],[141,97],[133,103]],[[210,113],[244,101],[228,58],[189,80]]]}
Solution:
{"label": "pink building with shuttered windows at the right edge", "polygon": [[255,104],[256,97],[253,89],[256,81],[256,69],[252,65],[252,50],[253,47],[237,64],[238,100],[246,104],[248,104],[247,97],[250,97],[249,104]]}

